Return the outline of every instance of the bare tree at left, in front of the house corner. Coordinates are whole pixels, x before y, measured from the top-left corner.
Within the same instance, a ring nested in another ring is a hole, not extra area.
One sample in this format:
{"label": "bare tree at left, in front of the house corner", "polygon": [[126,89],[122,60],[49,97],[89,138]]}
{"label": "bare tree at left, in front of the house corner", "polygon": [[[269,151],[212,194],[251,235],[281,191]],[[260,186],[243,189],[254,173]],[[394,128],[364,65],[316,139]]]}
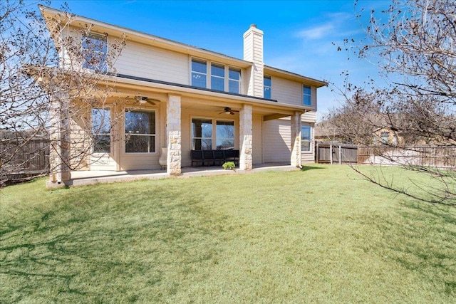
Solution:
{"label": "bare tree at left, in front of the house corner", "polygon": [[[49,2],[0,1],[0,172],[21,168],[18,155],[37,136],[50,138],[48,149],[65,162],[51,160],[51,171],[86,166],[94,147],[106,149],[106,135],[115,140],[106,129],[115,125],[102,121],[109,116],[92,111],[108,106],[113,91],[106,76],[115,73],[125,40],[111,39],[108,52],[108,41],[94,36],[93,25],[72,24],[69,13],[45,20],[38,4]],[[70,24],[73,35],[61,35]],[[61,155],[69,146],[71,155]]]}

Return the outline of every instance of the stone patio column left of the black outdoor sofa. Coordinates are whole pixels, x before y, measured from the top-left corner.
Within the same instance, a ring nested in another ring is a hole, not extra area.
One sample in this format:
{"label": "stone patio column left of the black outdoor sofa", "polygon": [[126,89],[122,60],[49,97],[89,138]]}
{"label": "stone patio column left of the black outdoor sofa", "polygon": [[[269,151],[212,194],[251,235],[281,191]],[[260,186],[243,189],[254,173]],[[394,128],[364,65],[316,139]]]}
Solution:
{"label": "stone patio column left of the black outdoor sofa", "polygon": [[180,120],[180,96],[168,95],[166,107],[167,173],[180,175],[182,167],[182,132]]}

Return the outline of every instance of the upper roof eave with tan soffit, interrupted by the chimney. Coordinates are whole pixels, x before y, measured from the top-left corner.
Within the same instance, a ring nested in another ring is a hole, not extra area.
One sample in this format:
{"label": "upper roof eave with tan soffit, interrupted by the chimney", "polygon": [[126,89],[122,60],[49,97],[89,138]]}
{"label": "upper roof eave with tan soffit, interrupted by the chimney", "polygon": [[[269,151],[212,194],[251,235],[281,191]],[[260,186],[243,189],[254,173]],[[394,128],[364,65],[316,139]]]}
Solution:
{"label": "upper roof eave with tan soffit, interrupted by the chimney", "polygon": [[[138,41],[140,43],[145,43],[146,45],[156,46],[158,48],[165,48],[170,51],[177,51],[179,53],[185,53],[190,56],[201,57],[209,60],[214,61],[221,61],[222,63],[230,63],[233,65],[237,65],[240,68],[249,68],[253,65],[252,62],[244,61],[239,58],[235,58],[232,56],[227,56],[222,53],[217,53],[214,51],[209,51],[204,48],[198,48],[196,46],[191,46],[185,43],[180,43],[177,41],[172,41],[167,38],[162,38],[159,36],[151,35],[149,33],[143,33],[141,31],[134,31],[130,28],[125,28],[123,26],[116,26],[110,23],[105,23],[102,21],[97,21],[94,19],[86,18],[83,16],[78,16],[76,14],[66,13],[65,11],[60,11],[58,9],[53,9],[48,6],[38,5],[39,9],[41,10],[41,14],[43,16],[52,17],[52,16],[60,16],[62,19],[66,19],[67,14],[71,16],[72,20],[70,23],[88,23],[93,26],[93,30],[96,31],[97,28],[103,33],[108,33],[114,36],[120,36],[121,34],[125,33],[125,38]],[[47,23],[47,22],[46,22]],[[47,23],[49,26],[49,24]],[[49,31],[53,33],[52,29],[49,28]],[[57,44],[57,43],[56,43]],[[309,78],[304,75],[299,75],[296,73],[292,73],[286,70],[281,70],[279,68],[273,68],[268,65],[264,65],[264,73],[268,75],[276,75],[281,78],[286,78],[290,80],[296,80],[302,83],[308,83],[309,85],[314,85],[317,88],[326,86],[328,83],[321,80],[316,80],[314,78]]]}

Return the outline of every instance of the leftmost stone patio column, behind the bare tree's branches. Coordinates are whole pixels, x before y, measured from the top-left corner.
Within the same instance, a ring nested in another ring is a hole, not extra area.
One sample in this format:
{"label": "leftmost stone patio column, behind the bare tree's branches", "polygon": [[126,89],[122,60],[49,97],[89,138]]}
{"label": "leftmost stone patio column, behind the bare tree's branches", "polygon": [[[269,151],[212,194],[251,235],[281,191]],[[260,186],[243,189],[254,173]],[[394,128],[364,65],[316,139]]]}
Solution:
{"label": "leftmost stone patio column, behind the bare tree's branches", "polygon": [[51,121],[49,123],[49,180],[46,187],[64,187],[71,179],[69,95],[66,90],[51,88]]}

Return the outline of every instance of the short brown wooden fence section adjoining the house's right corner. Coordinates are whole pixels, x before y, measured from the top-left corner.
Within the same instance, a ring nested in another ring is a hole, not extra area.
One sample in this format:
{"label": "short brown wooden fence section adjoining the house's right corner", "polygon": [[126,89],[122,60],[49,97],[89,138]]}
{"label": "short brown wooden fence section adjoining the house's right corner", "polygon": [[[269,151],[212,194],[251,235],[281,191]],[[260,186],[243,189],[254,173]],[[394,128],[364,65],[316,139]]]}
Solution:
{"label": "short brown wooden fence section adjoining the house's right corner", "polygon": [[319,164],[356,164],[358,146],[338,142],[317,142],[315,158]]}

